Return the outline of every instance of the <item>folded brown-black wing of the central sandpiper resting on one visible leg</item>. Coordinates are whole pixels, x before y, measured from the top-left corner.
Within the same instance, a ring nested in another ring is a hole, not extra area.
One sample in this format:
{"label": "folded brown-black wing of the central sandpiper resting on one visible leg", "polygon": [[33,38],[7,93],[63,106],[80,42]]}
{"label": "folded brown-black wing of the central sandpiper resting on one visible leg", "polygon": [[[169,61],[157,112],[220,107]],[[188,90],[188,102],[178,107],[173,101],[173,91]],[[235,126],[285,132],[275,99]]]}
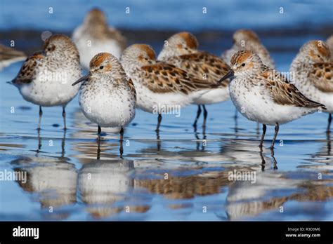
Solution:
{"label": "folded brown-black wing of the central sandpiper resting on one visible leg", "polygon": [[195,79],[183,69],[165,62],[141,67],[141,81],[143,86],[154,93],[183,93],[188,94],[196,90],[215,88],[216,84]]}

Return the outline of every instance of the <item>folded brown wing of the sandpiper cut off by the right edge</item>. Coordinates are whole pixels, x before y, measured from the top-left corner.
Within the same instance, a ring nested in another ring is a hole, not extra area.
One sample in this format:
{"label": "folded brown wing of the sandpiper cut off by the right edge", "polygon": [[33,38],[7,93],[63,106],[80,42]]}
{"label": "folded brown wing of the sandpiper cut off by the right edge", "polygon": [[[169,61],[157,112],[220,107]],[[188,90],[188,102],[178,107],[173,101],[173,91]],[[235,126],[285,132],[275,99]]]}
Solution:
{"label": "folded brown wing of the sandpiper cut off by the right edge", "polygon": [[333,62],[322,62],[313,65],[308,79],[315,88],[323,93],[333,93]]}

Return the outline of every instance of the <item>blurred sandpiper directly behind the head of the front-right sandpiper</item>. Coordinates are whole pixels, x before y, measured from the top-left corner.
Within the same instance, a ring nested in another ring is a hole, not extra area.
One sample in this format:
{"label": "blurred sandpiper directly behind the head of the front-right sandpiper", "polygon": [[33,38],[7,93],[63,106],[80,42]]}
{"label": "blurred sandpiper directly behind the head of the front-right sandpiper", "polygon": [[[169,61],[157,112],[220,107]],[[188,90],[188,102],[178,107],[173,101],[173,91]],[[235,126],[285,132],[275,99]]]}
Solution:
{"label": "blurred sandpiper directly behind the head of the front-right sandpiper", "polygon": [[263,46],[258,35],[252,32],[252,30],[238,29],[233,34],[233,46],[229,50],[226,50],[221,57],[227,64],[230,64],[231,57],[233,57],[238,50],[252,50],[259,55],[264,65],[272,69],[275,68],[268,50]]}

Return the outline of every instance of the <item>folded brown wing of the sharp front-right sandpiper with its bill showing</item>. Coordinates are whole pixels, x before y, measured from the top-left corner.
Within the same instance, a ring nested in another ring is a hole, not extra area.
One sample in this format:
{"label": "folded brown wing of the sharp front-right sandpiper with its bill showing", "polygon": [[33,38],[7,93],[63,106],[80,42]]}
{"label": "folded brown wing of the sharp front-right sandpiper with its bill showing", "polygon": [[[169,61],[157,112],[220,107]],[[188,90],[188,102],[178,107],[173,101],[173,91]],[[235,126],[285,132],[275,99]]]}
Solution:
{"label": "folded brown wing of the sharp front-right sandpiper with its bill showing", "polygon": [[292,83],[289,83],[287,78],[273,69],[266,68],[266,71],[261,73],[263,84],[270,91],[273,101],[281,105],[291,105],[295,107],[316,108],[322,107],[323,104],[314,102],[303,95]]}

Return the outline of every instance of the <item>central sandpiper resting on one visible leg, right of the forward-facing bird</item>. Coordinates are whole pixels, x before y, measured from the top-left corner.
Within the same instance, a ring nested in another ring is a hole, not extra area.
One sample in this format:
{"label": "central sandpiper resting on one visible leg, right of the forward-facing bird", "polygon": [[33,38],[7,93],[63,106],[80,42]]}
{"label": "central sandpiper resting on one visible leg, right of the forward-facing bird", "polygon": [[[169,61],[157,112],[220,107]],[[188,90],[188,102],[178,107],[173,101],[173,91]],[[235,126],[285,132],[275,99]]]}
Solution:
{"label": "central sandpiper resting on one visible leg, right of the forward-facing bird", "polygon": [[120,61],[136,87],[138,108],[158,114],[157,132],[162,121],[161,111],[192,104],[209,89],[217,86],[217,82],[207,83],[195,79],[174,65],[157,62],[155,51],[145,44],[134,44],[126,48]]}

